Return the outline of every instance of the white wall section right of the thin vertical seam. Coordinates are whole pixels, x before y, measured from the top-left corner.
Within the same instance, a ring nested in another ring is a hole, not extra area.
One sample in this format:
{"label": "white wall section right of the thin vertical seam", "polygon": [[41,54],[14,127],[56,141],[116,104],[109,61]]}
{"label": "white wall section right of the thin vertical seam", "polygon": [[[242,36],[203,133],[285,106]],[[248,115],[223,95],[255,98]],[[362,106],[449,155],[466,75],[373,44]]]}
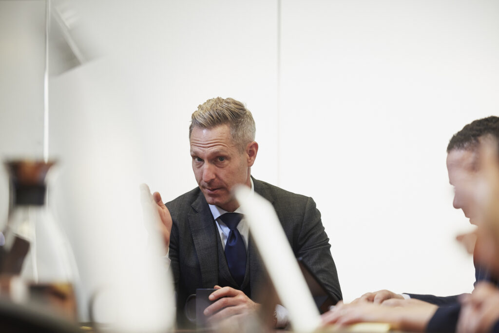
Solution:
{"label": "white wall section right of the thin vertical seam", "polygon": [[445,166],[497,114],[495,1],[282,1],[280,185],[313,196],[346,300],[470,291]]}

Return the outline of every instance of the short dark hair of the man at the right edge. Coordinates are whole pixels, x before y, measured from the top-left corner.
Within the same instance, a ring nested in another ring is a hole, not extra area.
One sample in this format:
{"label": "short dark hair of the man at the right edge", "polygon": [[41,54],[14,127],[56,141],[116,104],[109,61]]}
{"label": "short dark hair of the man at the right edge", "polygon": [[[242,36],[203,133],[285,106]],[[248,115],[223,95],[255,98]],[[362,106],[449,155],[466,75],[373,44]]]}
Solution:
{"label": "short dark hair of the man at the right edge", "polygon": [[447,153],[455,149],[475,151],[480,146],[480,140],[486,136],[492,136],[499,143],[499,117],[478,119],[463,127],[452,136]]}

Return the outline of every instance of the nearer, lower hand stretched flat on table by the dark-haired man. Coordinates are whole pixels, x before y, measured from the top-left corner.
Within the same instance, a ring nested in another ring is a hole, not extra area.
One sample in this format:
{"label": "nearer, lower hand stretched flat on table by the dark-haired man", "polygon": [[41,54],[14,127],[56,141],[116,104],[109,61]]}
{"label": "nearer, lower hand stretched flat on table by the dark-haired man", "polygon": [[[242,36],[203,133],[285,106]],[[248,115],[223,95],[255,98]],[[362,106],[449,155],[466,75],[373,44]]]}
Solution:
{"label": "nearer, lower hand stretched flat on table by the dark-haired man", "polygon": [[339,302],[334,309],[322,315],[322,323],[339,326],[356,323],[388,323],[394,330],[422,332],[437,311],[437,306],[423,301],[408,301],[391,300],[382,304]]}

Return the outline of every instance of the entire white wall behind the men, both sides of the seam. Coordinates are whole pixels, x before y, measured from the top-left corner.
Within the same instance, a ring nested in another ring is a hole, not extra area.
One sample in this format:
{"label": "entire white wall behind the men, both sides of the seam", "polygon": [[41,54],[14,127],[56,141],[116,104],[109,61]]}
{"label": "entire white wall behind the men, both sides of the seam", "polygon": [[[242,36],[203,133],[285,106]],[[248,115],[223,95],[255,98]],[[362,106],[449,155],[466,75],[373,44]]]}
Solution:
{"label": "entire white wall behind the men, both sides of the seam", "polygon": [[[0,13],[12,2],[1,1]],[[20,1],[30,2],[39,3]],[[98,283],[88,253],[98,254],[85,226],[92,208],[78,204],[93,193],[85,179],[112,179],[98,193],[103,200],[120,197],[110,186],[120,182],[128,186],[120,191],[147,182],[165,200],[195,187],[190,114],[215,96],[253,112],[260,144],[253,175],[317,202],[345,300],[381,288],[471,290],[471,258],[453,240],[468,222],[452,208],[445,149],[466,123],[497,113],[495,1],[281,0],[280,10],[264,0],[73,5],[101,56],[51,77],[50,146],[61,162],[54,208],[88,291]],[[0,31],[5,59],[3,45],[19,38]],[[37,47],[33,61],[43,54]],[[5,81],[15,76],[5,61],[0,101],[28,89]],[[29,100],[34,117],[39,102]],[[27,115],[3,109],[0,133],[36,133],[37,126],[8,125]],[[9,134],[1,154],[36,155],[34,136],[24,148]],[[99,156],[109,164],[92,165]]]}

